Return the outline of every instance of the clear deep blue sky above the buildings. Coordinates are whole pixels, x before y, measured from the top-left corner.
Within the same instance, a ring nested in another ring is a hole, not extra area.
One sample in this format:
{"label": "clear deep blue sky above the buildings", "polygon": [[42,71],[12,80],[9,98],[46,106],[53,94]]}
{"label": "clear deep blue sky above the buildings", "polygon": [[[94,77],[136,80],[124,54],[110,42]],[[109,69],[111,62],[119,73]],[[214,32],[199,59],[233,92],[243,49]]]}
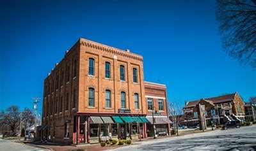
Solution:
{"label": "clear deep blue sky above the buildings", "polygon": [[145,81],[166,84],[169,101],[256,95],[255,70],[222,51],[213,0],[10,0],[0,2],[0,18],[0,110],[32,108],[79,38],[143,55]]}

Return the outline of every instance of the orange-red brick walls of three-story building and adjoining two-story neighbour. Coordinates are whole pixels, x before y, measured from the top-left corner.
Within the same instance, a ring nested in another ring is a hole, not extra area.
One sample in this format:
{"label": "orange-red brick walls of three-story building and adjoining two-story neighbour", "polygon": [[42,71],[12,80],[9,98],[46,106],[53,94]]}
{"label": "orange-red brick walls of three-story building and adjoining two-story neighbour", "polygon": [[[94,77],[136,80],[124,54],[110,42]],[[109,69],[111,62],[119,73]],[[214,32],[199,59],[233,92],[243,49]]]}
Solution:
{"label": "orange-red brick walls of three-story building and adjoining two-story neighbour", "polygon": [[[93,62],[93,69],[90,68],[89,60]],[[107,63],[110,64],[108,78],[106,78]],[[123,80],[120,78],[121,66],[124,67]],[[93,73],[89,73],[90,69]],[[145,117],[149,113],[145,87],[148,89],[148,95],[166,98],[164,87],[159,87],[157,84],[154,84],[155,88],[146,85],[141,55],[80,38],[44,80],[42,116],[44,132],[41,138],[45,137],[44,139],[59,143],[77,143],[75,138],[79,137],[79,133],[76,132],[81,127],[79,123],[81,118],[89,123],[91,115],[124,115],[118,113],[118,109],[122,108],[121,93],[125,94],[125,108],[131,110],[130,116]],[[111,94],[108,108],[106,107],[107,90]],[[92,94],[93,99],[90,99]],[[138,103],[135,101],[137,96]],[[89,99],[93,101],[89,102]],[[158,107],[157,100],[154,102]],[[166,104],[167,99],[164,99],[163,115],[168,115]],[[84,129],[90,129],[90,126]],[[143,129],[146,129],[144,125]],[[147,136],[145,133],[146,131],[143,130],[143,137]],[[88,138],[86,136],[84,138],[90,142],[89,131],[87,135]]]}

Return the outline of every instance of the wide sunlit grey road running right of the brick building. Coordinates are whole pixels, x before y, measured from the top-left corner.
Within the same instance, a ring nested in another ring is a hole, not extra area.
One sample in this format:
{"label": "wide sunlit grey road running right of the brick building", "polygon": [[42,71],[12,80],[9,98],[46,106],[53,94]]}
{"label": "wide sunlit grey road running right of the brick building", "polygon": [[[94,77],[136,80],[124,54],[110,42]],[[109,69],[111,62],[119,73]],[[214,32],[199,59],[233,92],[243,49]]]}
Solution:
{"label": "wide sunlit grey road running right of the brick building", "polygon": [[256,125],[143,141],[115,150],[256,150]]}

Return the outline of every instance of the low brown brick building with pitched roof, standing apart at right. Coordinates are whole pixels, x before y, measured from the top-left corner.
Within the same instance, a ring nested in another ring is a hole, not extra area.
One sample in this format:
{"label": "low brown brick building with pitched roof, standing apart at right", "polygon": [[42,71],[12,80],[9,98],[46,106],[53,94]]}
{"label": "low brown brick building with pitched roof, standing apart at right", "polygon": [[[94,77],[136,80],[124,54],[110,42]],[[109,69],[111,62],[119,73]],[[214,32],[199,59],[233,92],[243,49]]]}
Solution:
{"label": "low brown brick building with pitched roof, standing apart at right", "polygon": [[200,99],[198,101],[188,101],[184,107],[184,115],[182,116],[182,123],[188,127],[198,124],[198,112],[196,111],[196,104],[205,106],[205,121],[207,126],[213,124],[225,124],[228,121],[240,120],[243,122],[244,102],[236,92],[224,96],[211,97],[207,99]]}

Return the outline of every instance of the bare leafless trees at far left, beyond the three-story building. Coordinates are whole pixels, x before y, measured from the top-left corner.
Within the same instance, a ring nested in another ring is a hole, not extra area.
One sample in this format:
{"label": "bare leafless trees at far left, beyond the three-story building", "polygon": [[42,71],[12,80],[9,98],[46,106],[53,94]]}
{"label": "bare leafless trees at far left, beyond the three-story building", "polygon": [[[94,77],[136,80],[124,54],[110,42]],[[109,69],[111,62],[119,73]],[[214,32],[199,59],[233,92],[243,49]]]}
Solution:
{"label": "bare leafless trees at far left, beyond the three-story building", "polygon": [[33,124],[35,115],[29,108],[19,111],[18,106],[10,106],[5,111],[0,112],[1,124],[8,126],[13,135],[17,133],[17,128],[20,126],[20,118],[22,119],[22,125],[26,128]]}

